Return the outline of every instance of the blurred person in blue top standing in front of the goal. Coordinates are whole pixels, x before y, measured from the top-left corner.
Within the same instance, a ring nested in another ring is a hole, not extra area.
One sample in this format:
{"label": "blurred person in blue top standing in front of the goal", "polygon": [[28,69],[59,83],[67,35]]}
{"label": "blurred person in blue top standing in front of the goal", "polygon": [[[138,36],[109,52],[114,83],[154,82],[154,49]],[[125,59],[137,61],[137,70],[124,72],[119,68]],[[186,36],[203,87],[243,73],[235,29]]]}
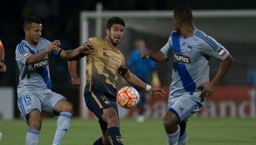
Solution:
{"label": "blurred person in blue top standing in front of the goal", "polygon": [[[131,52],[128,59],[128,68],[130,68],[131,72],[146,84],[151,83],[152,86],[159,88],[161,85],[156,71],[156,63],[151,59],[141,59],[140,57],[141,51],[148,50],[148,48],[146,48],[145,41],[143,39],[137,39],[135,40],[134,46],[135,49]],[[137,117],[137,121],[143,122],[145,120],[144,112],[147,91],[135,86],[133,87],[139,92],[140,95],[140,101],[138,104],[140,112],[139,116]]]}

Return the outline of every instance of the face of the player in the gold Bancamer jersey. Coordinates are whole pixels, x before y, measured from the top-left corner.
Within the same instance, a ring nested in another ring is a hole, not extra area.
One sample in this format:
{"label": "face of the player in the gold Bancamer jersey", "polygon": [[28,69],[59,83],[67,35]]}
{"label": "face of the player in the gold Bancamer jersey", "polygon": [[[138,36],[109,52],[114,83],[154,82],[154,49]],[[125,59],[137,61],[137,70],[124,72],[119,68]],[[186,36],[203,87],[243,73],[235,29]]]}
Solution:
{"label": "face of the player in the gold Bancamer jersey", "polygon": [[114,24],[110,30],[106,29],[107,39],[113,46],[119,44],[123,37],[124,26],[120,24]]}

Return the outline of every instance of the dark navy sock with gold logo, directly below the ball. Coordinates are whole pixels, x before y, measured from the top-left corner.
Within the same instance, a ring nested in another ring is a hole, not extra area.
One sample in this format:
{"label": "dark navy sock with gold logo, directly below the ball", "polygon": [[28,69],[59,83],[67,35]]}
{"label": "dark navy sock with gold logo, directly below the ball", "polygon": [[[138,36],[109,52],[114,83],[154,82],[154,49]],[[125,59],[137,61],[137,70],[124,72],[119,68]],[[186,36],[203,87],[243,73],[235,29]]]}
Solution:
{"label": "dark navy sock with gold logo, directly below the ball", "polygon": [[124,144],[118,127],[108,128],[108,139],[114,145]]}

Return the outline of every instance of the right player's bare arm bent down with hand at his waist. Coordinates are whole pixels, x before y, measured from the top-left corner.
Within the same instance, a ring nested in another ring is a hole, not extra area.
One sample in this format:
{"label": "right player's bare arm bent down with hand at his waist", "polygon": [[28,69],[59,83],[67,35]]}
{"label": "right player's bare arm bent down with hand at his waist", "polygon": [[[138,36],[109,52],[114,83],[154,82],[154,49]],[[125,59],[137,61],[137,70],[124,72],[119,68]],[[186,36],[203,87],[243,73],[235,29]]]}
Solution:
{"label": "right player's bare arm bent down with hand at his waist", "polygon": [[212,79],[212,81],[207,82],[207,83],[202,83],[202,84],[199,85],[199,86],[204,86],[202,94],[205,97],[211,97],[212,96],[212,94],[215,91],[219,81],[226,75],[226,73],[228,72],[232,63],[233,63],[233,58],[229,54],[228,57],[220,63],[220,67],[218,69],[218,72],[215,75],[215,77]]}

